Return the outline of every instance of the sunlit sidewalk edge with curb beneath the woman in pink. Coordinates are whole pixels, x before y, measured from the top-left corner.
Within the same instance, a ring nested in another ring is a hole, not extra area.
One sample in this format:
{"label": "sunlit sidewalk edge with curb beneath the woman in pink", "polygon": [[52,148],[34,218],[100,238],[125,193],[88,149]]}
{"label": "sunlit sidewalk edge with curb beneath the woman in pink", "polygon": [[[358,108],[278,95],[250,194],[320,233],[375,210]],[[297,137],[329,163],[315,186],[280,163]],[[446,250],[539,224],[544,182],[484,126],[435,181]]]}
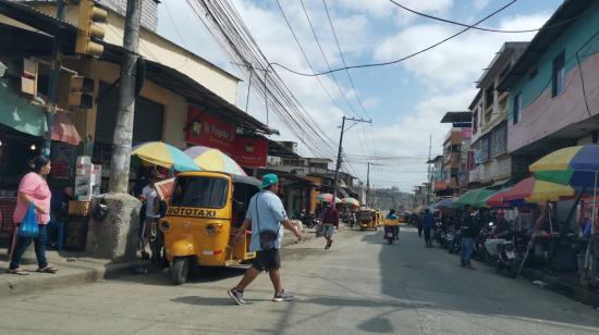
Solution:
{"label": "sunlit sidewalk edge with curb beneath the woman in pink", "polygon": [[148,261],[126,263],[77,262],[60,265],[56,274],[29,273],[26,276],[0,275],[0,299],[53,288],[99,282],[125,274],[133,266],[148,265]]}

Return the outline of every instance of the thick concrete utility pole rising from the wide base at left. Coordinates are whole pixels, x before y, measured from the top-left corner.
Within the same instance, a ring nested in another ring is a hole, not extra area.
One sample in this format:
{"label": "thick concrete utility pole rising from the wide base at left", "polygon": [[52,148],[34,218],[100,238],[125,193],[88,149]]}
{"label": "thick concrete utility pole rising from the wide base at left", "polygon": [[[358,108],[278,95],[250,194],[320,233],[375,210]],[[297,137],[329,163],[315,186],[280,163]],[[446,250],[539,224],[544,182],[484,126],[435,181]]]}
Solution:
{"label": "thick concrete utility pole rising from the wide base at left", "polygon": [[142,0],[127,0],[125,32],[123,38],[123,63],[119,86],[119,106],[114,126],[114,150],[110,164],[111,193],[126,194],[131,164],[131,142],[133,138],[133,115],[135,113],[135,77],[139,59],[139,24],[142,20]]}

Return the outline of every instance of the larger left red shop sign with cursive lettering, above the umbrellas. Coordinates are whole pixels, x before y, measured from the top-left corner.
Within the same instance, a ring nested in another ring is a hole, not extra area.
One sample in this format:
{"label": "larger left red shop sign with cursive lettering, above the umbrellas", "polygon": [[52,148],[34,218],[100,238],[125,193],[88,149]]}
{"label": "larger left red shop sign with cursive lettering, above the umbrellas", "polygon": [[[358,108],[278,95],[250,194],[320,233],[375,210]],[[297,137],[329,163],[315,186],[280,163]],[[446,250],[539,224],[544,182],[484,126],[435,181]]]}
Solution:
{"label": "larger left red shop sign with cursive lettering, above the umbrellas", "polygon": [[208,113],[190,107],[187,122],[191,123],[185,140],[192,145],[219,149],[228,154],[235,151],[235,126]]}

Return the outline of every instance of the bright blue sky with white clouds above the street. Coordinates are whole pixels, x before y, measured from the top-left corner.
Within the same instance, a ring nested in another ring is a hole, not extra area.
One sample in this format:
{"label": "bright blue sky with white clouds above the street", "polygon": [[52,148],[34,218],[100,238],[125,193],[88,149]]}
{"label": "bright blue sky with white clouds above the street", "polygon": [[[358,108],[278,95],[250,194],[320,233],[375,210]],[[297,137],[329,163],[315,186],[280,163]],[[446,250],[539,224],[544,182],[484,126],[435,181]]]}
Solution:
{"label": "bright blue sky with white clouds above the street", "polygon": [[[197,0],[190,0],[194,2]],[[310,73],[276,0],[230,0],[254,39],[271,62]],[[297,34],[302,48],[317,72],[328,70],[308,25],[300,0],[279,0]],[[463,27],[409,13],[389,0],[325,0],[347,65],[400,59],[447,38]],[[508,0],[395,0],[413,10],[472,24],[510,2]],[[323,0],[304,0],[325,55],[331,67],[342,67]],[[562,3],[559,0],[519,0],[480,27],[534,29],[541,27]],[[159,4],[158,33],[216,65],[243,78],[230,59],[194,16],[186,0],[164,0]],[[503,34],[468,30],[460,37],[404,62],[380,67],[351,70],[353,90],[346,72],[302,77],[282,69],[276,71],[300,102],[337,147],[343,115],[371,119],[345,133],[344,169],[366,182],[364,157],[393,157],[377,160],[370,169],[374,187],[399,187],[411,191],[427,181],[426,160],[442,153],[450,125],[440,124],[448,111],[467,110],[476,96],[475,82],[505,41],[527,41],[535,33]],[[338,80],[335,84],[334,79]],[[320,83],[319,83],[320,80]],[[247,83],[239,85],[237,107],[245,110]],[[359,99],[358,99],[359,98]],[[359,106],[359,101],[364,107]],[[247,112],[267,123],[264,101],[249,94]],[[281,132],[276,140],[298,140],[272,115],[269,126]],[[300,145],[300,153],[311,157]]]}

